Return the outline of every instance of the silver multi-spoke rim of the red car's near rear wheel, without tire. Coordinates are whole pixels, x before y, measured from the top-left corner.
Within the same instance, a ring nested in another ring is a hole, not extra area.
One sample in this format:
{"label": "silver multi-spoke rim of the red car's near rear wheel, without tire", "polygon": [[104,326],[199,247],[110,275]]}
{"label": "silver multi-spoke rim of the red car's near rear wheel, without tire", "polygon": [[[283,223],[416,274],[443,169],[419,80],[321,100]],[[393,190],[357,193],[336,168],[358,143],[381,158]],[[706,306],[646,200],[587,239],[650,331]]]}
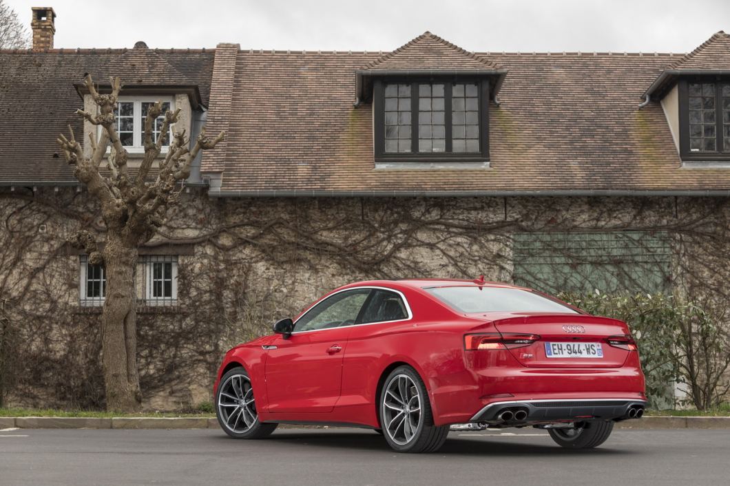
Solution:
{"label": "silver multi-spoke rim of the red car's near rear wheel, without tire", "polygon": [[385,387],[382,400],[383,430],[396,444],[408,444],[421,421],[418,387],[407,374],[396,374]]}

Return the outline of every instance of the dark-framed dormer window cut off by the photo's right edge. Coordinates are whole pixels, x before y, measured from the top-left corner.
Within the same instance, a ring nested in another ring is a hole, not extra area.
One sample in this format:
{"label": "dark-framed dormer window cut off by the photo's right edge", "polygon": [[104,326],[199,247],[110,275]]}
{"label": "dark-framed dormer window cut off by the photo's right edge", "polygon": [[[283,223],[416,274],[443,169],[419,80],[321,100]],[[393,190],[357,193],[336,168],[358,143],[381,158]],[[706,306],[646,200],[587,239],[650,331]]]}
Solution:
{"label": "dark-framed dormer window cut off by the photo's right edge", "polygon": [[730,80],[679,82],[683,160],[730,160]]}

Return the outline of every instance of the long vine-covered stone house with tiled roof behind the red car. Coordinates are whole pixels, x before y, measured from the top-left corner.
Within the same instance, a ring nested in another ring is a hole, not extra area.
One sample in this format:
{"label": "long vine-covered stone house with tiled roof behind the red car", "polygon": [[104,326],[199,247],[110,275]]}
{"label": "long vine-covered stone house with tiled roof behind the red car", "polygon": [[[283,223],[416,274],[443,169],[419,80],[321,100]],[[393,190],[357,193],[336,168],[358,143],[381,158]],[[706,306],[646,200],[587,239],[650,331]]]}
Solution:
{"label": "long vine-covered stone house with tiled roof behind the red car", "polygon": [[[370,277],[727,301],[730,36],[689,54],[471,53],[426,32],[392,53],[0,52],[0,396],[101,406],[103,233],[55,137],[94,127],[82,77],[123,78],[132,170],[147,104],[225,130],[139,249],[145,406],[210,400],[220,356]],[[38,40],[37,40],[38,39]],[[50,44],[48,39],[50,39]],[[89,150],[89,147],[85,147]],[[73,371],[70,371],[73,370]]]}

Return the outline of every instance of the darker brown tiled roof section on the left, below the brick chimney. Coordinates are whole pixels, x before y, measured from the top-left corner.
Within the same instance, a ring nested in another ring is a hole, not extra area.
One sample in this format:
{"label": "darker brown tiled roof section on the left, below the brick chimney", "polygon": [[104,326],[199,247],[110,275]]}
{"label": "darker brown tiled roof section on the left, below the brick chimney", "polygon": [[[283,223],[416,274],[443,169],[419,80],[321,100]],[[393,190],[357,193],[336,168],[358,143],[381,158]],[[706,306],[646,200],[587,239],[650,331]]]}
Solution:
{"label": "darker brown tiled roof section on the left, below the brick chimney", "polygon": [[118,75],[127,86],[198,85],[207,105],[213,56],[213,50],[0,51],[0,183],[74,181],[55,139],[69,124],[77,138],[83,134],[74,82],[85,73],[101,83]]}

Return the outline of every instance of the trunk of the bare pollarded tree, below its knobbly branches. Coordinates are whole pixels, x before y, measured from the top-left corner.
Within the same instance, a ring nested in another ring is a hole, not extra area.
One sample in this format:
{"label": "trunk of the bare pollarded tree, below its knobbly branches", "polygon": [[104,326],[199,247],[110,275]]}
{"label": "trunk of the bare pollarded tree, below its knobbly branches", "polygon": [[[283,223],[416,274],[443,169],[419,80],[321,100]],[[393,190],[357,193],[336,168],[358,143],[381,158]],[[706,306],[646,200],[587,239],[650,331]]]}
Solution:
{"label": "trunk of the bare pollarded tree, below its knobbly branches", "polygon": [[104,273],[107,277],[101,315],[101,351],[107,410],[134,412],[142,408],[137,374],[137,295],[134,269],[137,247],[107,234]]}

